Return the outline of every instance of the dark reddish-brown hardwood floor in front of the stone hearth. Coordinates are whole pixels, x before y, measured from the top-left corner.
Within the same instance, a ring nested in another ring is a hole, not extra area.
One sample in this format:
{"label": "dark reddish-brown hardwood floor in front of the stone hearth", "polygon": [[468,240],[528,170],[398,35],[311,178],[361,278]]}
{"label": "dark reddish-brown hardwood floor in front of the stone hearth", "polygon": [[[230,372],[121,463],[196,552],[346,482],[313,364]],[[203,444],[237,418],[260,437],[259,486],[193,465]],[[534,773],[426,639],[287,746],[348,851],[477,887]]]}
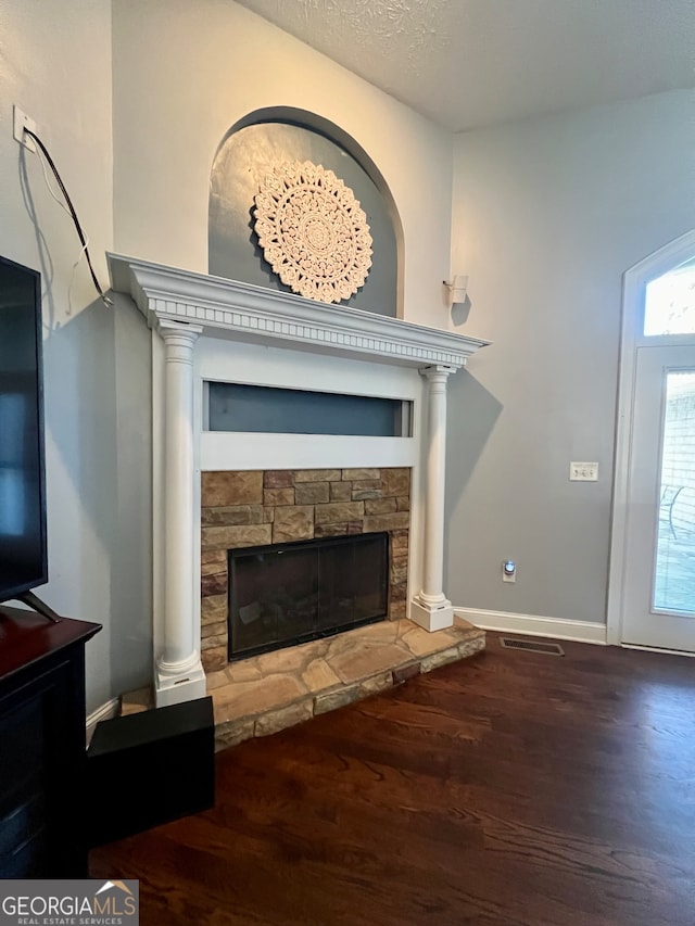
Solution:
{"label": "dark reddish-brown hardwood floor in front of the stone hearth", "polygon": [[143,926],[693,926],[695,660],[563,646],[490,634],[229,749],[214,811],[92,875],[139,878]]}

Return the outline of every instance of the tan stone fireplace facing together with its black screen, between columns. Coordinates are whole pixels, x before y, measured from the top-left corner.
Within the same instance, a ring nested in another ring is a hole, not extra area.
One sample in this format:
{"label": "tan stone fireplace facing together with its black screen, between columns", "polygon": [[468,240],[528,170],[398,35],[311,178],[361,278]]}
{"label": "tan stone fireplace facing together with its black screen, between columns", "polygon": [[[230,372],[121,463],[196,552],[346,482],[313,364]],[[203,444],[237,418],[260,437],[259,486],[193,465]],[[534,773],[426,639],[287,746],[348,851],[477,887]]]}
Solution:
{"label": "tan stone fireplace facing together with its black screen, between columns", "polygon": [[206,672],[406,617],[409,469],[203,472],[201,500]]}

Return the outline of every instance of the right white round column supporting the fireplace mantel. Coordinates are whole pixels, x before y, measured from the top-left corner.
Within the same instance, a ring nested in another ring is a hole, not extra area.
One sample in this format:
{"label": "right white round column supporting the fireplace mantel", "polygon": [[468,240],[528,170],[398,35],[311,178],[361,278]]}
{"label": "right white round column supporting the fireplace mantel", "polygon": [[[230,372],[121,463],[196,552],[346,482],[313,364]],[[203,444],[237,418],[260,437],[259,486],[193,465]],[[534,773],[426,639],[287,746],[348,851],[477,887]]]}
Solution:
{"label": "right white round column supporting the fireplace mantel", "polygon": [[428,631],[454,623],[454,609],[442,591],[444,575],[444,487],[446,455],[446,382],[455,367],[424,367],[427,379],[427,465],[422,588],[410,602],[410,619]]}

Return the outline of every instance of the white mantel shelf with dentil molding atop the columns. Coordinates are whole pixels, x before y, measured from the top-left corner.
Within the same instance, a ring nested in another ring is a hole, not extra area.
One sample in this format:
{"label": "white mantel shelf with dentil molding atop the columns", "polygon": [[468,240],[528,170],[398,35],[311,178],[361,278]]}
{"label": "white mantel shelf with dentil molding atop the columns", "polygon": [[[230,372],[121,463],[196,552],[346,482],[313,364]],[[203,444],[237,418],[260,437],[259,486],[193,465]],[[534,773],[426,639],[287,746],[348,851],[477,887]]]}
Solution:
{"label": "white mantel shelf with dentil molding atop the columns", "polygon": [[208,338],[276,343],[372,363],[452,369],[463,367],[489,343],[222,277],[117,254],[106,256],[112,289],[130,295],[152,328],[165,320],[188,322],[201,327]]}

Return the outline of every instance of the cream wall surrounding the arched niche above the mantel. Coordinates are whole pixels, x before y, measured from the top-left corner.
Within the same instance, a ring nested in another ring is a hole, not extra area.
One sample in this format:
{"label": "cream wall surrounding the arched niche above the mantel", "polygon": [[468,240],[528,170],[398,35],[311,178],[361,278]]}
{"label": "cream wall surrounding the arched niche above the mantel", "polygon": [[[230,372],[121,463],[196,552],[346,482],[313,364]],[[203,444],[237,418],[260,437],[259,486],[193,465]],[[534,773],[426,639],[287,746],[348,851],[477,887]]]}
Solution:
{"label": "cream wall surrounding the arched niche above the mantel", "polygon": [[118,0],[113,17],[116,251],[207,272],[217,147],[249,113],[293,106],[378,165],[403,223],[404,317],[447,327],[448,132],[231,0]]}

